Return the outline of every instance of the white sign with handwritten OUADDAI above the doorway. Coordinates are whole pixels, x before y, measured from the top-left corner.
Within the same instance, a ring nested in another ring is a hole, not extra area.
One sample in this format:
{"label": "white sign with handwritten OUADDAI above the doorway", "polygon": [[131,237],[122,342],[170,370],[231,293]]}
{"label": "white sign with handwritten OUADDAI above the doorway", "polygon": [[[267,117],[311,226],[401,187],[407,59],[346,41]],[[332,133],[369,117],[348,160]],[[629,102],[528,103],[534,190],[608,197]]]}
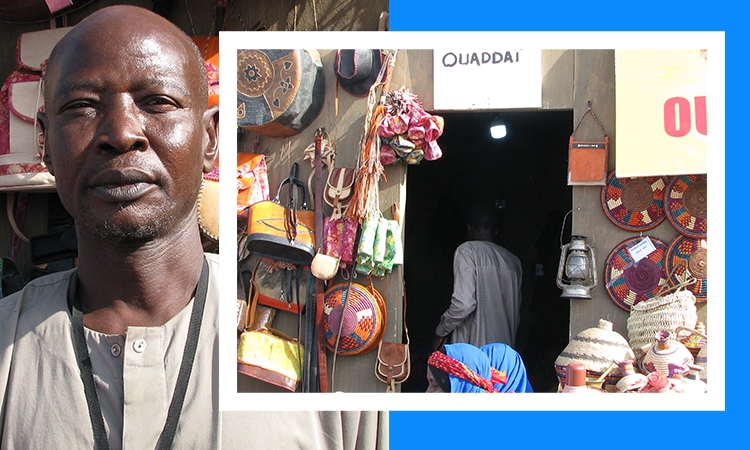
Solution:
{"label": "white sign with handwritten OUADDAI above the doorway", "polygon": [[540,108],[542,51],[435,49],[436,110]]}

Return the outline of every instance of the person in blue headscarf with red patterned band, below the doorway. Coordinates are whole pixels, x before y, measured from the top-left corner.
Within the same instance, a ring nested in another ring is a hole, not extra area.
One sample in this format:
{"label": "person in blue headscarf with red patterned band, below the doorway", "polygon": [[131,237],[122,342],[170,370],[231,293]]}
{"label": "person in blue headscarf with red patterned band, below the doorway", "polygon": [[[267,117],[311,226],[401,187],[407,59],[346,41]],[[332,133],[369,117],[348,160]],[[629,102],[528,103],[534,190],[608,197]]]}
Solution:
{"label": "person in blue headscarf with red patterned band, below the doorway", "polygon": [[471,344],[444,345],[427,364],[427,392],[497,392],[490,359]]}

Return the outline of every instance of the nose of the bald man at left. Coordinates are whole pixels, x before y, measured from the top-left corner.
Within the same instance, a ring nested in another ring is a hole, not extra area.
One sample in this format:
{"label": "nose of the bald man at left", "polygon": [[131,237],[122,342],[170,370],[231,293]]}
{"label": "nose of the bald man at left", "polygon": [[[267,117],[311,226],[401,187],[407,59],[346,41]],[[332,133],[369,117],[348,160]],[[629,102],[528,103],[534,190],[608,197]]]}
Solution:
{"label": "nose of the bald man at left", "polygon": [[103,152],[142,150],[148,146],[141,111],[127,95],[115,96],[101,111],[96,149]]}

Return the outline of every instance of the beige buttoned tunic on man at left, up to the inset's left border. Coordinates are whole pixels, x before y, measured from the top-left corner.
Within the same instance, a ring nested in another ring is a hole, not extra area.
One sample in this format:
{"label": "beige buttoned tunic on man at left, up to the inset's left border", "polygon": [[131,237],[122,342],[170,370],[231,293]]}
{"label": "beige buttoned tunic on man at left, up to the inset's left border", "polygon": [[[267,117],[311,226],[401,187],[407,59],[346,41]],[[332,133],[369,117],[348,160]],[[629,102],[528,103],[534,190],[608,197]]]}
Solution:
{"label": "beige buttoned tunic on man at left, up to the inset's left border", "polygon": [[[218,448],[218,257],[174,448]],[[75,270],[75,269],[74,269]],[[0,300],[0,448],[93,448],[75,360],[67,290],[74,270]],[[86,329],[112,449],[154,448],[167,417],[193,302],[159,327],[125,336]]]}

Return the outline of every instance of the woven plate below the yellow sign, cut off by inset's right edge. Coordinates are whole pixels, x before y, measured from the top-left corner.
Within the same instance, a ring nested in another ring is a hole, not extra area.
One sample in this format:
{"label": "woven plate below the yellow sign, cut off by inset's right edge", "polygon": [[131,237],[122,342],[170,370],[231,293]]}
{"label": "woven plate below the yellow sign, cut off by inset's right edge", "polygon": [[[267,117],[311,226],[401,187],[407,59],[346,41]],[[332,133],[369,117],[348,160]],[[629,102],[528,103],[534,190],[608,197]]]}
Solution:
{"label": "woven plate below the yellow sign, cut off by inset's right edge", "polygon": [[682,175],[672,178],[667,187],[667,219],[680,234],[692,238],[706,237],[706,175]]}

